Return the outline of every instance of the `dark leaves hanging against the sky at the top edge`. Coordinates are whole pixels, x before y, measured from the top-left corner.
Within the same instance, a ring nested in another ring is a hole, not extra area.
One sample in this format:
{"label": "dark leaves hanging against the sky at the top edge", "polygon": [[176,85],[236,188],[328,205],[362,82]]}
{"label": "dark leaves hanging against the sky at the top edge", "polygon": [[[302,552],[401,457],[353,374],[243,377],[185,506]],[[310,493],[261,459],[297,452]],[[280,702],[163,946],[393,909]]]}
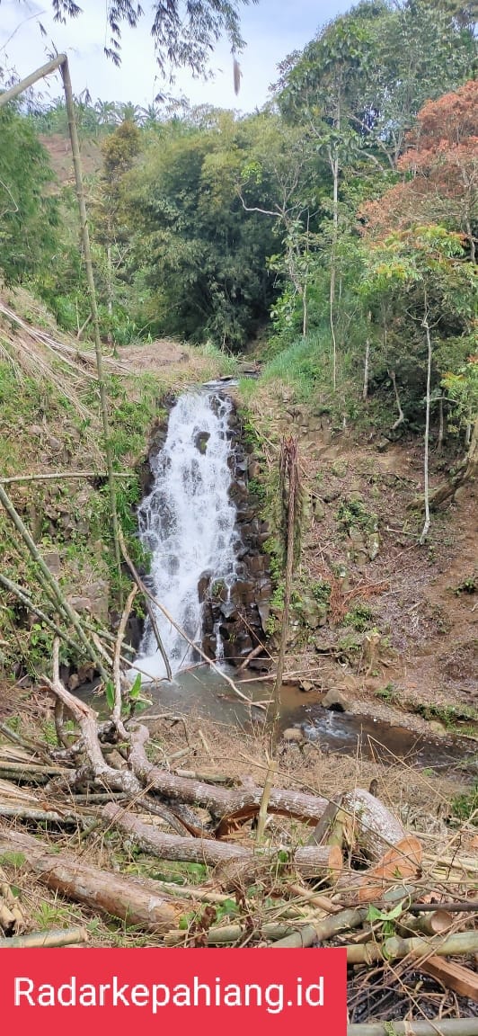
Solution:
{"label": "dark leaves hanging against the sky at the top edge", "polygon": [[[153,0],[148,5],[153,16],[151,35],[157,63],[161,71],[167,67],[187,66],[197,75],[207,67],[210,52],[219,36],[226,33],[233,53],[244,46],[240,34],[239,12],[241,4],[257,0]],[[74,0],[51,0],[56,22],[66,22],[83,13]],[[107,24],[110,30],[106,55],[115,64],[121,63],[121,29],[123,25],[136,28],[145,11],[131,0],[114,0],[107,5]]]}

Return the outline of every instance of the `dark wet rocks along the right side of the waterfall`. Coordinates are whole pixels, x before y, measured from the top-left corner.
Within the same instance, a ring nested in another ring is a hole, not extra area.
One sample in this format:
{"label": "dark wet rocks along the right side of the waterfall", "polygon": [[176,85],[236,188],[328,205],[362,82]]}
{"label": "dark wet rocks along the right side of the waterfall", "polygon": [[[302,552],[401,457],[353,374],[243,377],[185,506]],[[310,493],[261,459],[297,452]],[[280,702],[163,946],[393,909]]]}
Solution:
{"label": "dark wet rocks along the right side of the waterfall", "polygon": [[[259,515],[259,502],[249,491],[249,481],[257,478],[258,463],[247,453],[242,439],[240,419],[231,413],[230,434],[233,443],[230,494],[237,509],[236,580],[228,588],[211,573],[203,573],[200,600],[203,606],[202,648],[209,658],[223,655],[226,661],[240,665],[244,658],[265,641],[272,585],[269,558],[263,553],[268,527]],[[261,667],[261,660],[257,665]],[[263,663],[267,668],[267,660]]]}

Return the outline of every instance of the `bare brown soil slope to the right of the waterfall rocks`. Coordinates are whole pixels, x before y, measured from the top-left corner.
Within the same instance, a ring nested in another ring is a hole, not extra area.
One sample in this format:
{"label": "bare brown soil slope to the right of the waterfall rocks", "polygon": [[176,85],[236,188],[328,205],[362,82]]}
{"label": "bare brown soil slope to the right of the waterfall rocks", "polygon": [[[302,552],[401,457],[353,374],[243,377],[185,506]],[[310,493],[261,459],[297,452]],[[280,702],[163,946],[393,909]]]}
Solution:
{"label": "bare brown soil slope to the right of the waterfall rocks", "polygon": [[[427,724],[417,716],[406,719],[401,710],[419,709],[436,720],[447,710],[457,714],[465,710],[462,719],[468,718],[469,728],[473,723],[476,728],[474,484],[462,486],[453,500],[432,514],[429,536],[420,546],[423,516],[411,505],[423,491],[421,442],[387,445],[364,441],[363,435],[356,439],[349,430],[334,430],[328,419],[311,422],[306,407],[294,408],[288,402],[279,419],[276,403],[268,407],[262,400],[256,409],[261,427],[267,425],[269,441],[291,430],[298,436],[305,496],[302,575],[332,583],[328,623],[310,636],[311,651],[304,651],[303,638],[302,646],[299,639],[291,645],[289,670],[303,663],[315,687],[343,690],[354,712],[372,712],[423,731]],[[269,459],[273,462],[272,453]],[[432,454],[432,484],[443,481],[452,462],[451,457]],[[377,516],[380,547],[375,559],[355,553],[350,530],[337,514],[343,500],[359,500],[366,514]],[[339,569],[347,573],[342,582],[333,575]],[[318,650],[322,653],[354,635],[360,644],[362,635],[354,634],[343,617],[363,603],[372,612],[369,625],[381,634],[371,663],[360,650],[318,658]],[[445,730],[437,726],[435,732]]]}

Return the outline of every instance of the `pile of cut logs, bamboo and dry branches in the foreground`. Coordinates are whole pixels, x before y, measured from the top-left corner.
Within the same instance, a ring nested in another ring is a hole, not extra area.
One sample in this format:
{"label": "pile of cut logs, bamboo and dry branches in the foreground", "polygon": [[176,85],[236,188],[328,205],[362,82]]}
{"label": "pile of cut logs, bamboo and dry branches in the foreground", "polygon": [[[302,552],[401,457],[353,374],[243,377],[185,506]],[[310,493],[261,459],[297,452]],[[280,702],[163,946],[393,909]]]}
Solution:
{"label": "pile of cut logs, bamboo and dry branches in the foreground", "polygon": [[[389,1018],[393,1005],[393,1017],[476,1015],[472,823],[449,832],[445,846],[442,835],[407,830],[370,790],[337,789],[332,799],[279,786],[276,761],[261,784],[234,783],[201,731],[208,768],[180,769],[189,743],[153,761],[149,722],[157,717],[126,720],[113,710],[98,722],[55,669],[44,691],[58,744],[1,725],[0,945],[85,942],[93,913],[120,919],[152,946],[346,946],[351,1034],[386,1032],[355,1021]],[[109,867],[93,863],[98,838],[154,860],[155,876],[122,873],[111,857]],[[175,881],[161,875],[166,861],[178,868]],[[86,922],[27,932],[22,894],[12,892],[23,873],[81,903]]]}

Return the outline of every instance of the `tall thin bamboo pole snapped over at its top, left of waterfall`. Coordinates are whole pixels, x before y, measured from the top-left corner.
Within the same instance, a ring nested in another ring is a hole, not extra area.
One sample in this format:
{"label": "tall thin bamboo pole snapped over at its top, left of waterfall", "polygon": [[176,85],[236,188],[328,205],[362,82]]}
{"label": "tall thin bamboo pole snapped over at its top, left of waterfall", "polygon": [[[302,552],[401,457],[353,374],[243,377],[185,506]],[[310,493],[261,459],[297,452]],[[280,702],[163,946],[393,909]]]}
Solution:
{"label": "tall thin bamboo pole snapped over at its top, left of waterfall", "polygon": [[99,390],[102,431],[104,439],[104,459],[107,464],[108,485],[110,491],[110,508],[111,508],[113,541],[115,548],[115,560],[118,573],[118,597],[120,606],[122,607],[123,595],[121,588],[121,551],[118,539],[118,533],[119,533],[118,511],[116,507],[115,472],[113,470],[113,452],[111,445],[110,422],[108,415],[108,396],[107,396],[107,387],[104,380],[101,338],[99,335],[98,307],[96,303],[96,288],[94,283],[93,262],[91,258],[90,234],[88,230],[88,215],[86,211],[85,191],[83,188],[80,143],[78,139],[77,121],[74,118],[74,100],[71,89],[71,79],[69,75],[68,59],[66,57],[66,54],[59,54],[57,58],[54,58],[47,64],[41,65],[40,68],[37,68],[36,71],[31,73],[30,76],[27,76],[25,79],[21,80],[20,83],[17,83],[9,90],[4,90],[3,93],[0,93],[0,108],[8,104],[9,100],[13,100],[21,93],[27,90],[28,87],[33,86],[33,84],[36,83],[39,79],[43,79],[44,76],[50,76],[52,73],[57,71],[57,69],[60,69],[61,77],[63,80],[66,112],[68,116],[69,139],[71,143],[71,154],[72,154],[73,169],[74,169],[74,182],[77,186],[78,205],[80,211],[80,230],[83,242],[83,251],[85,255],[85,269],[86,269],[86,277],[88,284],[88,294],[90,299],[91,324],[93,327],[93,338],[94,338],[95,355],[96,355],[96,375],[97,375],[97,383]]}

